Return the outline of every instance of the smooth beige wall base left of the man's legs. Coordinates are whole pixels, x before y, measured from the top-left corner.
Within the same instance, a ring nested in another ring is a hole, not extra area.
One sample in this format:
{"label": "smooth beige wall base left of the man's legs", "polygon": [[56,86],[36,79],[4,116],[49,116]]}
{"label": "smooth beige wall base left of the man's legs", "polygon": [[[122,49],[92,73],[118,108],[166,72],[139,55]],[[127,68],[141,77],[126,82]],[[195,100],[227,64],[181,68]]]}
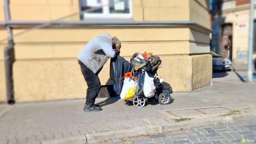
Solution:
{"label": "smooth beige wall base left of the man's legs", "polygon": [[17,60],[16,102],[85,98],[87,85],[76,59]]}

